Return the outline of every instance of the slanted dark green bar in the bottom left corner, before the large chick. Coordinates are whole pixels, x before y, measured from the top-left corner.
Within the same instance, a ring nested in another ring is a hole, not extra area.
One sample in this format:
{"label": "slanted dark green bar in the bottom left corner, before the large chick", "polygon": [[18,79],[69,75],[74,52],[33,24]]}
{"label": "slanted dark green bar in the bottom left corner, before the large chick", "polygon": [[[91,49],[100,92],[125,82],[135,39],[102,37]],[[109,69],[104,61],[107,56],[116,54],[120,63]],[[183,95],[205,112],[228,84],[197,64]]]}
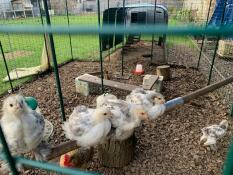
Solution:
{"label": "slanted dark green bar in the bottom left corner, before the large chick", "polygon": [[5,155],[5,158],[6,158],[6,161],[8,162],[9,164],[9,167],[10,167],[10,170],[11,170],[11,173],[13,175],[19,175],[19,172],[18,170],[16,169],[16,164],[15,164],[15,160],[14,158],[11,156],[11,152],[8,148],[8,145],[6,143],[6,140],[5,140],[5,137],[4,137],[4,134],[3,134],[3,131],[2,131],[2,127],[0,126],[0,140],[1,140],[1,143],[2,143],[2,149],[3,149],[3,154]]}

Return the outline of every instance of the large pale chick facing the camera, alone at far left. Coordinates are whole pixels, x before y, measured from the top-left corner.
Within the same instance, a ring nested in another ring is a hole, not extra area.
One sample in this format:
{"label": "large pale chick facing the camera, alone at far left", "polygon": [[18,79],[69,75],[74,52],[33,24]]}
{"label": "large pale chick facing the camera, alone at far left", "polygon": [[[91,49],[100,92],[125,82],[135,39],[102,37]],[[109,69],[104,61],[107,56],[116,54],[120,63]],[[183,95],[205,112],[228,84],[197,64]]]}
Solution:
{"label": "large pale chick facing the camera, alone at far left", "polygon": [[[45,121],[41,114],[33,111],[21,95],[11,95],[3,102],[1,127],[13,155],[33,151],[37,160],[43,160],[42,141],[45,136]],[[2,145],[0,145],[2,147]]]}

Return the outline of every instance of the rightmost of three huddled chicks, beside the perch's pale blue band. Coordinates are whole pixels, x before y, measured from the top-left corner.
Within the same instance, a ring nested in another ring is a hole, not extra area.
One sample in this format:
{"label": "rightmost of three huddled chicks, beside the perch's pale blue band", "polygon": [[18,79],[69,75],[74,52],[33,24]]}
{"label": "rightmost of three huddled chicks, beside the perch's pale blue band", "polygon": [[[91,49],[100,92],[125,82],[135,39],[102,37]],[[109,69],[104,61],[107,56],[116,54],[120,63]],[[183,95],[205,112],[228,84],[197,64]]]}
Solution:
{"label": "rightmost of three huddled chicks, beside the perch's pale blue band", "polygon": [[126,97],[126,101],[134,105],[142,106],[150,119],[157,118],[165,111],[165,99],[162,94],[155,91],[137,88]]}

